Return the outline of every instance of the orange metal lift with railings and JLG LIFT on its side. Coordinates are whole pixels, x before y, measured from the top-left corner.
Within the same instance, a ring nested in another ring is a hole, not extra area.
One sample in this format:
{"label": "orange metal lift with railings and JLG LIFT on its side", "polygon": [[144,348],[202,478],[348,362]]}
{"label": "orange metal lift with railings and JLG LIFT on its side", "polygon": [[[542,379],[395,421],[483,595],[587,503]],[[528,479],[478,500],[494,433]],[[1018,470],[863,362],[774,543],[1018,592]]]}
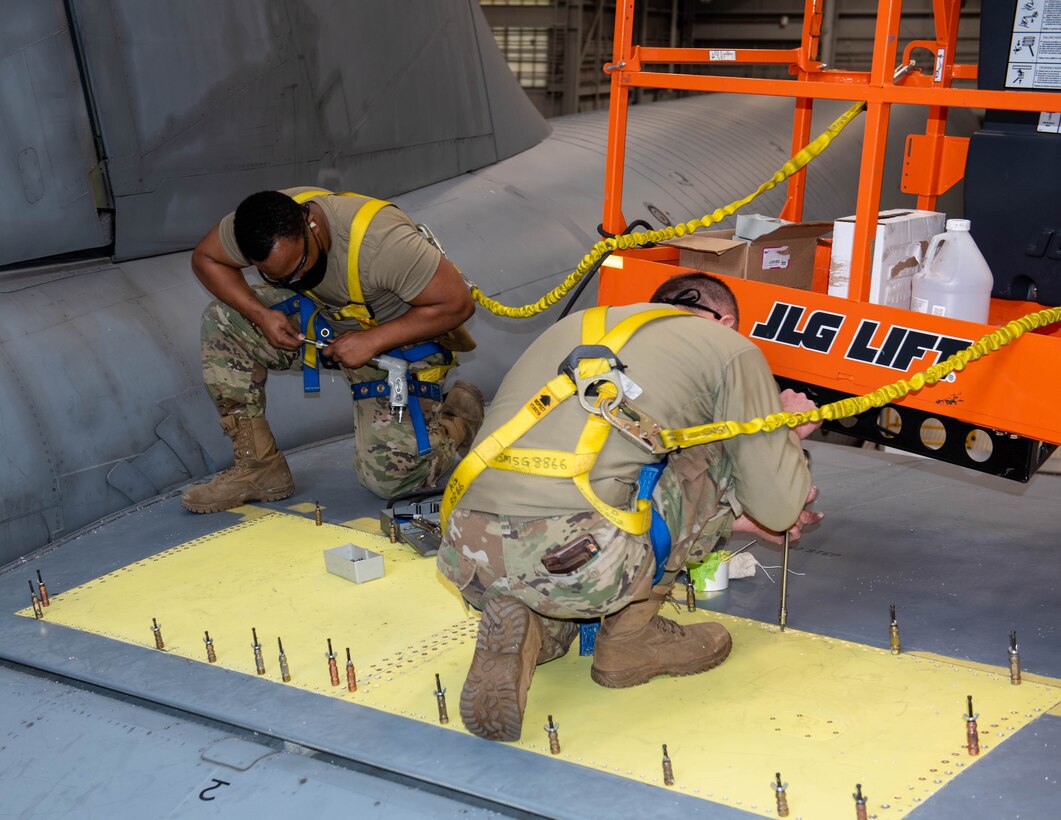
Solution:
{"label": "orange metal lift with railings and JLG LIFT on its side", "polygon": [[[732,277],[727,280],[741,301],[743,331],[759,344],[775,374],[786,384],[804,387],[819,403],[869,392],[903,373],[936,364],[957,342],[971,343],[995,326],[1043,307],[995,299],[990,324],[977,325],[869,301],[891,106],[928,107],[925,133],[907,138],[902,190],[917,195],[919,208],[934,210],[936,197],[964,175],[969,140],[946,134],[949,108],[1050,111],[1061,105],[1061,95],[1046,91],[953,87],[955,80],[977,76],[976,66],[955,63],[960,0],[935,0],[936,38],[907,42],[901,54],[902,2],[881,0],[869,71],[840,71],[819,62],[824,0],[805,0],[801,42],[795,49],[637,46],[632,42],[634,5],[634,0],[618,2],[612,62],[604,67],[611,78],[611,101],[603,227],[611,233],[622,233],[627,225],[623,171],[630,89],[793,98],[793,154],[811,138],[815,100],[866,102],[849,297]],[[920,55],[921,51],[933,55],[928,71],[912,63],[915,53]],[[787,65],[793,78],[682,71],[690,65],[707,66],[710,71],[711,67],[750,64]],[[646,68],[649,66],[653,70]],[[674,66],[674,70],[660,70],[666,66]],[[805,186],[805,170],[789,178],[782,219],[800,221]],[[678,250],[673,247],[618,251],[602,269],[598,300],[619,304],[645,299],[659,282],[678,272],[677,263]],[[819,337],[806,344],[813,334]],[[891,355],[897,348],[905,353]],[[1061,328],[1053,326],[1028,333],[970,366],[951,384],[907,396],[889,407],[893,409],[890,415],[858,419],[838,429],[940,460],[1027,481],[1054,446],[1061,443],[1059,399]],[[979,443],[973,447],[977,439]]]}

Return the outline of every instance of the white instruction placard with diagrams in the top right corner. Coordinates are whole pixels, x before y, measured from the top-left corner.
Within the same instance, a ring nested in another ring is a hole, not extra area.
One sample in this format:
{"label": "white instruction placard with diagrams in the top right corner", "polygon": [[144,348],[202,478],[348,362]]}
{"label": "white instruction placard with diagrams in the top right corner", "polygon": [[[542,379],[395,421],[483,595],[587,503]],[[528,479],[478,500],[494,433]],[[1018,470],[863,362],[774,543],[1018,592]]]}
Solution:
{"label": "white instruction placard with diagrams in the top right corner", "polygon": [[1016,0],[1006,87],[1061,89],[1061,0]]}

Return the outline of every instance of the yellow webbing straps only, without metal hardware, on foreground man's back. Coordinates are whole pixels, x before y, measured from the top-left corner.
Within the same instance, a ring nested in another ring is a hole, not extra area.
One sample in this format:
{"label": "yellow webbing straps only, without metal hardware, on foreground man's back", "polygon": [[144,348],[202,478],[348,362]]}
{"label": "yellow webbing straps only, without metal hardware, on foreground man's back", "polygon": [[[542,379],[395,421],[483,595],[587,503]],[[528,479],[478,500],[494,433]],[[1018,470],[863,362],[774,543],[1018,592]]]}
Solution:
{"label": "yellow webbing straps only, without metal hardware, on foreground man's back", "polygon": [[[649,321],[668,316],[693,315],[674,308],[655,309],[628,316],[611,331],[605,332],[607,310],[606,306],[599,306],[586,311],[582,316],[582,344],[604,345],[616,355],[630,336]],[[607,370],[608,364],[603,359],[585,359],[578,365],[579,376],[584,379],[599,376]],[[636,510],[622,510],[605,504],[593,492],[590,470],[611,432],[611,425],[602,417],[590,415],[587,418],[574,452],[511,447],[562,401],[574,396],[575,390],[575,383],[566,373],[554,377],[512,418],[484,438],[457,465],[442,493],[439,507],[443,529],[450,512],[468,491],[471,483],[484,470],[493,468],[528,475],[571,478],[590,505],[620,529],[634,535],[648,530],[651,523],[650,502],[640,499]]]}

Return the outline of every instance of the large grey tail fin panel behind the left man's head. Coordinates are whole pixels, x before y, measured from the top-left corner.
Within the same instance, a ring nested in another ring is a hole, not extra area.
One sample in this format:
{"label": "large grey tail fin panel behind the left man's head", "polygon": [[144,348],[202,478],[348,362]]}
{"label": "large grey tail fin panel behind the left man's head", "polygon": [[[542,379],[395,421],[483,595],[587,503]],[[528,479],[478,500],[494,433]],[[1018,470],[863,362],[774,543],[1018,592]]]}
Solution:
{"label": "large grey tail fin panel behind the left man's head", "polygon": [[394,196],[549,133],[507,69],[484,76],[503,58],[471,0],[72,5],[116,259],[192,247],[247,192]]}

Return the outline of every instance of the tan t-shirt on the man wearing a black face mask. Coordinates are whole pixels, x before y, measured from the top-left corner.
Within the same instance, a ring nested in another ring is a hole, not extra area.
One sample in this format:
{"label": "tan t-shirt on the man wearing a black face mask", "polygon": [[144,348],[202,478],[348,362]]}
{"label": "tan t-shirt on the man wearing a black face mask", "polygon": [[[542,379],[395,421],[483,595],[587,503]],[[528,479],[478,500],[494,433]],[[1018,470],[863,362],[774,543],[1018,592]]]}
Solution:
{"label": "tan t-shirt on the man wearing a black face mask", "polygon": [[[312,188],[285,188],[281,193],[294,196]],[[328,272],[324,281],[313,289],[319,300],[333,308],[349,303],[347,287],[347,258],[350,249],[350,223],[358,209],[368,199],[365,196],[313,196],[308,202],[316,203],[325,212],[331,233],[328,249]],[[221,245],[241,266],[250,264],[240,246],[236,244],[232,230],[234,212],[222,219],[218,226]],[[310,242],[313,238],[310,237]],[[416,229],[412,220],[396,206],[382,208],[368,226],[358,255],[361,290],[376,320],[389,321],[408,310],[408,302],[419,296],[428,286],[441,254]],[[333,322],[340,327],[349,321]],[[352,322],[358,327],[356,322]],[[346,328],[349,329],[349,328]]]}

